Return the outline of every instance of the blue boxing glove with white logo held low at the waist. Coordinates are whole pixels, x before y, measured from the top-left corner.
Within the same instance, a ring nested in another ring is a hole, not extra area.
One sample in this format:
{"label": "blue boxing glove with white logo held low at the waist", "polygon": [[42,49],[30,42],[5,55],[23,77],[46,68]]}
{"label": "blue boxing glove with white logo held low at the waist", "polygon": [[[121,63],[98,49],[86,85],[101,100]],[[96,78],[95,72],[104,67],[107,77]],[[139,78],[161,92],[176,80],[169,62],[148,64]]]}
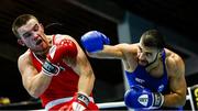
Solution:
{"label": "blue boxing glove with white logo held low at the waist", "polygon": [[124,102],[131,109],[158,109],[164,102],[164,96],[141,86],[132,86],[124,95]]}

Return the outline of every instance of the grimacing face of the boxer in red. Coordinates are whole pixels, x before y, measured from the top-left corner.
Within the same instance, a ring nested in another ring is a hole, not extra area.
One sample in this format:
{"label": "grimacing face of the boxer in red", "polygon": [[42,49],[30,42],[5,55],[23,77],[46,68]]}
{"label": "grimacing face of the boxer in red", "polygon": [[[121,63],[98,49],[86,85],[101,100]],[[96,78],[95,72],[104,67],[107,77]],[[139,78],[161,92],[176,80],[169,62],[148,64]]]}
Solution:
{"label": "grimacing face of the boxer in red", "polygon": [[18,29],[18,33],[21,36],[19,43],[26,45],[33,52],[42,52],[47,48],[48,42],[44,34],[42,24],[35,19],[31,19],[26,24]]}

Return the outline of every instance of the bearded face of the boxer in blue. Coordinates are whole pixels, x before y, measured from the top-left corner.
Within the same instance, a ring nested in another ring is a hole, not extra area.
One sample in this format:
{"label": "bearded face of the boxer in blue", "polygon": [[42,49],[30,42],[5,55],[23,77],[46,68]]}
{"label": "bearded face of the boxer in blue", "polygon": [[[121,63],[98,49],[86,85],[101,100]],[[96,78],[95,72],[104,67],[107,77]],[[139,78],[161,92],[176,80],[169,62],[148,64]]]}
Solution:
{"label": "bearded face of the boxer in blue", "polygon": [[160,53],[157,48],[144,46],[142,42],[139,43],[138,58],[140,65],[146,66],[153,63],[156,57],[158,57],[158,54]]}

